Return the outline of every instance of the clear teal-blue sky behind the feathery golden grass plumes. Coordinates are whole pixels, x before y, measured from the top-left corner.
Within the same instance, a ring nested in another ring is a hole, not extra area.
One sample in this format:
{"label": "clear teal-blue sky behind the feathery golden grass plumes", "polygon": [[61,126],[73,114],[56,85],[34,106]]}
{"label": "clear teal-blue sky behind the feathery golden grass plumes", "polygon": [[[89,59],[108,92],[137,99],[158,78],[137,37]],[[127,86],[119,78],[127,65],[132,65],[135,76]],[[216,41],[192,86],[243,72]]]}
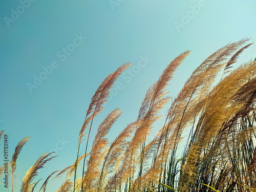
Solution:
{"label": "clear teal-blue sky behind the feathery golden grass plumes", "polygon": [[[33,180],[42,178],[38,187],[55,170],[73,164],[91,97],[120,65],[132,63],[95,119],[89,143],[98,124],[117,107],[123,114],[108,136],[110,142],[136,120],[146,90],[183,51],[192,52],[170,81],[171,97],[217,49],[243,38],[255,42],[255,7],[255,1],[247,0],[0,0],[0,130],[8,136],[9,161],[17,143],[31,136],[17,159],[14,191],[44,153],[58,157]],[[254,51],[252,45],[239,61],[254,59]],[[54,180],[47,190],[56,191],[62,181]],[[0,191],[11,191],[10,175],[8,188],[4,178],[0,182]]]}

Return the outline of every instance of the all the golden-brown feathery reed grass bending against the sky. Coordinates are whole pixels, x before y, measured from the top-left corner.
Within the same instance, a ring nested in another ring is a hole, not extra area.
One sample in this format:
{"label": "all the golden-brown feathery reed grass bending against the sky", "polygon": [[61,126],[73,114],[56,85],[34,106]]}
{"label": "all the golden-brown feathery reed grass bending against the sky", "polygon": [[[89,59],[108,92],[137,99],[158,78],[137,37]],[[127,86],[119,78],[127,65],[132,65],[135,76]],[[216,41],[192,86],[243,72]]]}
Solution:
{"label": "all the golden-brown feathery reed grass bending against the sky", "polygon": [[[46,191],[52,175],[56,174],[55,179],[66,174],[57,191],[256,191],[256,61],[229,70],[251,45],[246,42],[228,44],[211,54],[170,102],[166,87],[190,51],[181,53],[147,90],[137,119],[109,143],[106,135],[122,114],[114,109],[98,126],[89,149],[95,118],[108,101],[114,82],[130,63],[120,66],[103,80],[92,97],[78,135],[76,161],[61,172],[53,172],[41,183],[40,190]],[[222,78],[216,82],[219,74]],[[166,104],[169,108],[165,123],[148,141]],[[182,138],[184,130],[190,132]],[[12,176],[28,139],[23,138],[15,148],[10,163]],[[86,148],[81,148],[85,141]],[[181,142],[185,147],[178,155]],[[54,158],[51,155],[42,155],[28,170],[22,192],[34,191],[40,180],[32,180],[37,170]]]}

